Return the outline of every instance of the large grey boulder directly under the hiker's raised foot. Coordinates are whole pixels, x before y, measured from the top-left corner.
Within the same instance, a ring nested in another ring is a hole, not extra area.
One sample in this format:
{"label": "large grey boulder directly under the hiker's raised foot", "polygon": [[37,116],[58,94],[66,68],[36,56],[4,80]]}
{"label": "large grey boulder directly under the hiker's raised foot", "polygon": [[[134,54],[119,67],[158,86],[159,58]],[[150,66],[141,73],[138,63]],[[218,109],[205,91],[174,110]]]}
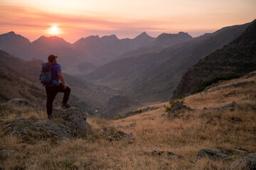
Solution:
{"label": "large grey boulder directly under the hiker's raised foot", "polygon": [[80,108],[53,108],[53,118],[60,118],[64,121],[64,125],[77,130],[79,135],[85,131],[90,132],[90,125],[87,123],[87,112]]}

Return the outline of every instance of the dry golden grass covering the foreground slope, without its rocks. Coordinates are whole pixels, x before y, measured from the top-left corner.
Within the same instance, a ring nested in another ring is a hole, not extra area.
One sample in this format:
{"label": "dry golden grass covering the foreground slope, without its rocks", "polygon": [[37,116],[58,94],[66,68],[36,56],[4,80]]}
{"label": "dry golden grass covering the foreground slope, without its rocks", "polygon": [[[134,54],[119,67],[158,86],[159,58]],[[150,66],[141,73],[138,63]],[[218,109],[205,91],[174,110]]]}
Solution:
{"label": "dry golden grass covering the foreground slope, without its rocks", "polygon": [[[256,84],[229,86],[243,81],[256,81],[256,76],[222,81],[206,92],[184,98],[184,104],[193,111],[181,111],[178,118],[166,117],[164,106],[168,103],[154,105],[161,106],[157,110],[119,120],[88,118],[92,137],[63,140],[62,145],[54,145],[49,139],[37,145],[26,144],[21,147],[18,145],[23,142],[20,138],[0,134],[0,149],[6,145],[6,149],[21,153],[0,159],[1,168],[225,169],[230,162],[196,159],[196,155],[200,149],[218,147],[233,152],[234,159],[241,157],[229,145],[246,149],[247,153],[256,152],[256,115],[253,109],[256,106]],[[222,86],[228,87],[222,89]],[[238,103],[235,108],[213,111],[233,101]],[[203,108],[207,110],[203,111]],[[29,118],[31,115],[46,118],[46,113],[29,109],[21,117]],[[15,112],[4,114],[4,118],[15,117]],[[233,121],[234,118],[241,121]],[[102,137],[101,129],[104,128],[132,132],[136,140],[110,142]],[[166,154],[152,156],[153,150],[174,152],[181,158]]]}

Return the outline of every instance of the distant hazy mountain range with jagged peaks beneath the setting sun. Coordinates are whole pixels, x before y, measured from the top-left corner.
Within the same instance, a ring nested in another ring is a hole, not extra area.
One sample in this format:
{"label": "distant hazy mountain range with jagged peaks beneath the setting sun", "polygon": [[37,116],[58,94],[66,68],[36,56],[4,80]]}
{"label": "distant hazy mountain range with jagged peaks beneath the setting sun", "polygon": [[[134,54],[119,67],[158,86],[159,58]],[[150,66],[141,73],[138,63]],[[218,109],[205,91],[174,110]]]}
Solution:
{"label": "distant hazy mountain range with jagged peaks beneath the setting sun", "polygon": [[[189,38],[191,37],[189,36]],[[0,35],[0,50],[9,52],[23,60],[36,58],[45,62],[48,55],[54,54],[59,57],[58,61],[64,66],[64,72],[80,75],[92,72],[100,65],[112,62],[131,50],[149,45],[172,45],[187,39],[181,33],[173,36],[163,33],[159,35],[159,38],[151,38],[144,32],[134,39],[121,40],[116,35],[102,38],[92,35],[70,44],[57,36],[41,36],[30,42],[27,38],[11,31]]]}

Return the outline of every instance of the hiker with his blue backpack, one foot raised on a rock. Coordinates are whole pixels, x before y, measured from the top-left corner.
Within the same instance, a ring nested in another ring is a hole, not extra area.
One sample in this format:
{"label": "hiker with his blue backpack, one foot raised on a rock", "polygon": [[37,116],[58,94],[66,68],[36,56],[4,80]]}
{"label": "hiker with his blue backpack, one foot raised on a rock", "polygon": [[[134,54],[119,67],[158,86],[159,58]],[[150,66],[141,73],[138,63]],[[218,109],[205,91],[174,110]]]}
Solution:
{"label": "hiker with his blue backpack, one foot raised on a rock", "polygon": [[[68,98],[70,96],[70,88],[65,85],[65,81],[61,74],[60,65],[57,64],[57,56],[49,55],[48,62],[42,64],[42,72],[40,76],[41,83],[46,86],[47,94],[47,115],[48,119],[52,119],[53,113],[53,100],[58,92],[63,92],[62,108],[70,108]],[[59,80],[62,83],[59,83]]]}

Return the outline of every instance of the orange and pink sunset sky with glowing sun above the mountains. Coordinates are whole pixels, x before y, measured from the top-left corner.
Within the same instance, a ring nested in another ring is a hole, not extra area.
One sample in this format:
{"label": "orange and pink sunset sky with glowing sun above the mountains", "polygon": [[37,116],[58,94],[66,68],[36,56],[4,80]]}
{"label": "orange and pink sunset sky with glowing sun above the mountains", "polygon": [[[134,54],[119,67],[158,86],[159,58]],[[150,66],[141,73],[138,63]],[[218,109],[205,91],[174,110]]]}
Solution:
{"label": "orange and pink sunset sky with glowing sun above the mountains", "polygon": [[193,37],[256,18],[255,0],[0,0],[0,34],[31,42],[57,35],[75,42],[90,35],[135,38],[142,32]]}

